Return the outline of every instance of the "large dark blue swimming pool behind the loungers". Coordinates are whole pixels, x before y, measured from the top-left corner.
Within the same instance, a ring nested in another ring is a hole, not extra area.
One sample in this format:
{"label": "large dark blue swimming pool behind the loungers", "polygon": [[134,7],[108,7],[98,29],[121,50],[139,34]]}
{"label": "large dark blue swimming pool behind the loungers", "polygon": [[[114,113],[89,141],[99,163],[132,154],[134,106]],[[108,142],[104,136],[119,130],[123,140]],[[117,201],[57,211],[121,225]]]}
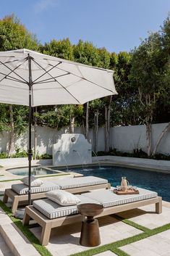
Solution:
{"label": "large dark blue swimming pool behind the loungers", "polygon": [[[101,168],[69,168],[69,171],[81,173],[84,176],[98,176],[106,178],[111,186],[120,185],[122,176],[127,177],[129,184],[143,189],[156,191],[163,200],[170,202],[170,173],[158,173],[147,170],[121,168],[115,166],[101,166]],[[67,170],[64,170],[67,172]]]}

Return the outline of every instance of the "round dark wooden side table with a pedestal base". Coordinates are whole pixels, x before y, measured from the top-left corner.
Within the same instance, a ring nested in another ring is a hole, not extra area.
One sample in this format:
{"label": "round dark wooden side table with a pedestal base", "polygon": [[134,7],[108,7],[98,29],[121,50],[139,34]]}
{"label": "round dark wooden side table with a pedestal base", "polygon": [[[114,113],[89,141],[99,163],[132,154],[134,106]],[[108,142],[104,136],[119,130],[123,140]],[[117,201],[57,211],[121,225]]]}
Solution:
{"label": "round dark wooden side table with a pedestal base", "polygon": [[103,205],[98,204],[80,204],[77,210],[86,218],[82,220],[82,229],[80,235],[80,244],[85,247],[96,247],[101,244],[101,237],[98,228],[98,220],[94,216],[103,212]]}

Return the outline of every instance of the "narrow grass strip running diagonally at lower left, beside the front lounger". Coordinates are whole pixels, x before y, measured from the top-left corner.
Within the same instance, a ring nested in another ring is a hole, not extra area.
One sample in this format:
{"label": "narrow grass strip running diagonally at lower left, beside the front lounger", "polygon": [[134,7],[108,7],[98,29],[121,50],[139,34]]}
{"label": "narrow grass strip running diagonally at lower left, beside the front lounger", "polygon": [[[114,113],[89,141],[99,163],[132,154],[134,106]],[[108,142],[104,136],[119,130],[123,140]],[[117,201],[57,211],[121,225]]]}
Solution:
{"label": "narrow grass strip running diagonally at lower left, beside the front lounger", "polygon": [[12,222],[17,226],[17,228],[19,228],[20,231],[22,231],[22,234],[25,235],[25,237],[30,241],[30,243],[33,244],[33,246],[35,247],[35,249],[37,249],[40,255],[52,256],[48,249],[46,249],[46,247],[39,243],[38,239],[34,236],[30,229],[27,228],[26,226],[23,226],[22,221],[20,219],[14,218],[14,216],[12,216],[12,212],[9,209],[9,207],[7,207],[7,205],[5,205],[4,202],[2,202],[1,200],[0,207],[9,216],[9,218],[11,218]]}

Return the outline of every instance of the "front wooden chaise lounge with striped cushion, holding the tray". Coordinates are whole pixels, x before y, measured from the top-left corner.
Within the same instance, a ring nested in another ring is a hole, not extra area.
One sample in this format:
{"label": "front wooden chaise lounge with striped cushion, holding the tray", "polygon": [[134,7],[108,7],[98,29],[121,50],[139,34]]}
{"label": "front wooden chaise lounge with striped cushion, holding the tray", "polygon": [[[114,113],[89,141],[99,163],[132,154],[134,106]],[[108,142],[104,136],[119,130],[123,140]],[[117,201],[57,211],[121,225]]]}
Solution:
{"label": "front wooden chaise lounge with striped cushion, holding the tray", "polygon": [[[98,217],[111,215],[117,212],[156,205],[156,212],[162,212],[162,200],[154,191],[139,189],[140,194],[117,195],[112,189],[91,191],[76,195],[80,203],[95,203],[103,205],[103,212]],[[25,207],[23,225],[29,225],[30,219],[35,220],[42,227],[40,242],[47,245],[51,228],[76,223],[82,220],[82,215],[77,213],[77,205],[61,206],[51,199],[39,199],[33,205]]]}

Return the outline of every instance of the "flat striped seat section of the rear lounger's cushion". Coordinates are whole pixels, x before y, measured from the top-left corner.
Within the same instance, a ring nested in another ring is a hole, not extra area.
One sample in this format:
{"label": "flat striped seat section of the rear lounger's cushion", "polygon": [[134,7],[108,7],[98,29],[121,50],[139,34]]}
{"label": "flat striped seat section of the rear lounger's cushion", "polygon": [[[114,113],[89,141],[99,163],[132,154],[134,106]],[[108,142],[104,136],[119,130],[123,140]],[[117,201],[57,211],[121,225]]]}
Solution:
{"label": "flat striped seat section of the rear lounger's cushion", "polygon": [[58,184],[60,189],[74,189],[82,186],[93,186],[103,183],[108,183],[104,178],[94,176],[78,177],[78,178],[63,178],[58,181],[53,181]]}

